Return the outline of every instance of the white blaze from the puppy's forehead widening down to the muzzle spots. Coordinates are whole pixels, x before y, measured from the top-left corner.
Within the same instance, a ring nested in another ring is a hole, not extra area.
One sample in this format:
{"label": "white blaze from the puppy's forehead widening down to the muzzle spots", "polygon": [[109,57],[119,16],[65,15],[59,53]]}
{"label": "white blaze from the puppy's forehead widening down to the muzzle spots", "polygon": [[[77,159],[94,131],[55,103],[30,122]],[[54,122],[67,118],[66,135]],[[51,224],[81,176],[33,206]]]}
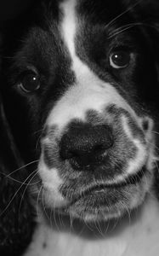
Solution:
{"label": "white blaze from the puppy's forehead widening down to the muzzle spots", "polygon": [[[84,15],[83,17],[84,11],[86,10],[87,12],[88,10],[88,6],[85,6],[84,3],[86,2],[65,0],[60,2],[59,5],[62,14],[58,25],[60,38],[65,45],[66,56],[69,55],[71,59],[69,67],[66,68],[69,71],[71,70],[74,79],[60,97],[60,100],[55,103],[54,109],[52,109],[48,116],[47,124],[50,126],[54,124],[59,125],[61,130],[73,118],[84,119],[88,109],[95,109],[100,112],[101,109],[106,108],[112,103],[113,98],[116,98],[118,107],[122,108],[124,105],[125,108],[128,108],[128,104],[123,101],[116,87],[111,84],[109,75],[108,77],[106,76],[105,80],[101,79],[98,73],[91,67],[91,61],[86,61],[83,57],[85,50],[83,48],[85,46],[82,45],[82,29],[85,30],[89,25],[92,29],[94,29],[94,26],[96,28],[96,25],[91,22],[92,17],[91,19],[88,18],[89,15]],[[94,1],[91,1],[91,3],[94,3]],[[103,3],[103,1],[99,3]],[[99,6],[101,5],[99,4]],[[82,13],[81,9],[83,9]],[[90,15],[92,15],[92,12]],[[86,20],[88,20],[89,24],[86,24]],[[99,25],[98,22],[97,24]],[[81,46],[80,49],[77,49],[78,44]],[[88,42],[88,44],[91,47],[91,44],[94,44],[94,42]],[[62,108],[65,111],[61,111]]]}

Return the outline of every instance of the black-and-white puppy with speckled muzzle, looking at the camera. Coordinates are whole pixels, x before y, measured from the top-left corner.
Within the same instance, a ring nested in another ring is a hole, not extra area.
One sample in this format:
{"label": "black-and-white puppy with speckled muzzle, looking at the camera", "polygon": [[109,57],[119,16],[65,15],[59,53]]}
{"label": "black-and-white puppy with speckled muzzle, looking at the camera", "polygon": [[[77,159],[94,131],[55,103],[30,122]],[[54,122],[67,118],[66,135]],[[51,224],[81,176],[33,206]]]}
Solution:
{"label": "black-and-white puppy with speckled muzzle, looking at the camera", "polygon": [[24,255],[158,254],[157,9],[46,0],[5,27],[4,109],[22,159],[37,160]]}

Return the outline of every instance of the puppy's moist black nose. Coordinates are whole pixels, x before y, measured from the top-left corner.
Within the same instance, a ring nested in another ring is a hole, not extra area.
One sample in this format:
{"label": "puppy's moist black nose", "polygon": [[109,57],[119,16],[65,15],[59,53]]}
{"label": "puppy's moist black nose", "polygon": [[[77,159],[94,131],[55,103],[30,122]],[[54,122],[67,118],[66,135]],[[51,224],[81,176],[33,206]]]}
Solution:
{"label": "puppy's moist black nose", "polygon": [[102,160],[113,145],[108,125],[71,125],[60,141],[60,157],[77,169],[90,168]]}

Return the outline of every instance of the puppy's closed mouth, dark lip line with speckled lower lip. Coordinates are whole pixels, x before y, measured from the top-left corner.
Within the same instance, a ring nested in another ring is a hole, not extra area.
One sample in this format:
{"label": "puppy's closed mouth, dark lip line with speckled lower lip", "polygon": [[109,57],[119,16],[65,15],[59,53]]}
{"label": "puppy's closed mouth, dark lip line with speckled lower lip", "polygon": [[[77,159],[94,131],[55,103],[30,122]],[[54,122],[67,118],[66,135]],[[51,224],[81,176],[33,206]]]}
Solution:
{"label": "puppy's closed mouth, dark lip line with speckled lower lip", "polygon": [[61,212],[85,220],[118,218],[128,212],[128,208],[131,209],[134,198],[136,201],[143,201],[141,197],[145,193],[140,189],[146,174],[146,168],[143,167],[120,183],[98,183],[80,192],[67,190],[66,197],[69,202]]}

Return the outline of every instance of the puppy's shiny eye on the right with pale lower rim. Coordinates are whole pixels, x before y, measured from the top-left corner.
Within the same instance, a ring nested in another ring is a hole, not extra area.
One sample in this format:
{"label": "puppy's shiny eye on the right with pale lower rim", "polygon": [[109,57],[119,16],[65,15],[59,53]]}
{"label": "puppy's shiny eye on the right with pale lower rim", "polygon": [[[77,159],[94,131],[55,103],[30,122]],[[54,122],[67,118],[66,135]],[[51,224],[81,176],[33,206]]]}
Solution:
{"label": "puppy's shiny eye on the right with pale lower rim", "polygon": [[117,50],[110,55],[110,65],[113,68],[128,67],[130,60],[130,53],[124,50]]}

